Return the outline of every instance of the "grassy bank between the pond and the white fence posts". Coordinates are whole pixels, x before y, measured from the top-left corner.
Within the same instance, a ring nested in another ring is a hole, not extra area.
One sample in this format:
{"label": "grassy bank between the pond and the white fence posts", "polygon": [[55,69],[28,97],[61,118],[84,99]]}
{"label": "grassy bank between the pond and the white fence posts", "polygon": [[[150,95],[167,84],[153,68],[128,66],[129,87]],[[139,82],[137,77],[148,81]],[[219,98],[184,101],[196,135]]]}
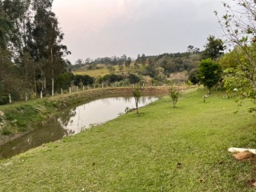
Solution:
{"label": "grassy bank between the pond and the white fence posts", "polygon": [[[146,87],[142,92],[144,94],[166,93],[168,89],[168,87]],[[131,94],[131,88],[92,89],[0,106],[0,145],[37,129],[59,110],[90,101],[90,99],[122,94]]]}

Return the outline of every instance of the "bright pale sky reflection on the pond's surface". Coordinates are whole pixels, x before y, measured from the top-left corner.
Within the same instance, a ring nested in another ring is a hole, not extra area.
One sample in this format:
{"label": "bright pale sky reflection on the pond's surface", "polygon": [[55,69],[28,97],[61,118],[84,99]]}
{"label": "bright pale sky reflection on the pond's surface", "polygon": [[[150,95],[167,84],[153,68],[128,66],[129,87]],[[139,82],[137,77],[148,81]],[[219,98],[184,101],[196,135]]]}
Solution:
{"label": "bright pale sky reflection on the pond's surface", "polygon": [[[138,106],[146,106],[157,99],[156,97],[142,97]],[[64,118],[64,121],[63,118],[58,118],[58,122],[65,130],[68,130],[68,133],[78,134],[91,126],[117,118],[118,114],[125,112],[126,107],[135,107],[134,98],[102,98],[74,108],[70,113],[74,115],[70,115],[69,122],[67,118]]]}

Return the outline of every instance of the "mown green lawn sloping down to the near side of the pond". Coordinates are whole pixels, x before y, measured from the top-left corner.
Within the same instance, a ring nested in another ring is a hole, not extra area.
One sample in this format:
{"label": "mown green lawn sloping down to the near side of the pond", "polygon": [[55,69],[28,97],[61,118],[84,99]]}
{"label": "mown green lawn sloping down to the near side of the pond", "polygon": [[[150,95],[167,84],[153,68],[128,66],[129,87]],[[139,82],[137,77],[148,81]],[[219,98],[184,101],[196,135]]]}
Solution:
{"label": "mown green lawn sloping down to the near side of the pond", "polygon": [[[0,161],[0,191],[254,191],[255,164],[227,149],[255,147],[250,103],[202,90],[169,97],[59,142]],[[238,110],[238,113],[234,112]]]}

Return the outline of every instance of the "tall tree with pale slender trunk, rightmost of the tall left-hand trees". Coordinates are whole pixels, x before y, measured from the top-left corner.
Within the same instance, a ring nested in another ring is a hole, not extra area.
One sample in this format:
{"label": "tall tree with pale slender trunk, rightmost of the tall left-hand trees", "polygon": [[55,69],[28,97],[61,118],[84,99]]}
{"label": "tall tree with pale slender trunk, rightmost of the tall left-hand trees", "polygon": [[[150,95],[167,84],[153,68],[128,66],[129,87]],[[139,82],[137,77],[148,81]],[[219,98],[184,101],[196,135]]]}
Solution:
{"label": "tall tree with pale slender trunk, rightmost of the tall left-hand trees", "polygon": [[34,1],[34,22],[32,23],[32,39],[30,50],[38,63],[41,89],[46,90],[46,82],[51,82],[54,93],[54,78],[65,68],[63,57],[70,54],[62,45],[64,34],[58,27],[58,19],[51,11],[52,1]]}

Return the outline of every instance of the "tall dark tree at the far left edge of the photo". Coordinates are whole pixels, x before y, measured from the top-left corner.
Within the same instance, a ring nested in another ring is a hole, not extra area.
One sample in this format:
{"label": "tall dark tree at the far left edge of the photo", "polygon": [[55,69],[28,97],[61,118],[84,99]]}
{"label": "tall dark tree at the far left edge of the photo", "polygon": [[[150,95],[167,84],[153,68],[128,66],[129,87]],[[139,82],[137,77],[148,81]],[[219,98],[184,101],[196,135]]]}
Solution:
{"label": "tall dark tree at the far left edge of the photo", "polygon": [[[14,5],[17,6],[17,13],[14,13]],[[2,98],[12,94],[19,98],[19,93],[24,87],[21,81],[18,66],[14,65],[17,58],[17,21],[21,12],[22,3],[15,1],[0,2],[0,103],[4,104]],[[4,99],[5,100],[5,99]]]}

